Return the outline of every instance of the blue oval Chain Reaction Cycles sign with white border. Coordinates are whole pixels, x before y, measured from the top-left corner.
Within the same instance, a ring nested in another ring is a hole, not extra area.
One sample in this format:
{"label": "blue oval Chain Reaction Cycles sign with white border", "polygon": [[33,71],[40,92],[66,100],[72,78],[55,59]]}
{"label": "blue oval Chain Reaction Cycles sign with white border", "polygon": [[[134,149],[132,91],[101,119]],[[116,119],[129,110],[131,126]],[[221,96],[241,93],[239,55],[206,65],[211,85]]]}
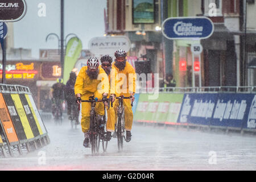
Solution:
{"label": "blue oval Chain Reaction Cycles sign with white border", "polygon": [[212,20],[205,16],[167,18],[162,27],[167,39],[207,39],[214,31]]}

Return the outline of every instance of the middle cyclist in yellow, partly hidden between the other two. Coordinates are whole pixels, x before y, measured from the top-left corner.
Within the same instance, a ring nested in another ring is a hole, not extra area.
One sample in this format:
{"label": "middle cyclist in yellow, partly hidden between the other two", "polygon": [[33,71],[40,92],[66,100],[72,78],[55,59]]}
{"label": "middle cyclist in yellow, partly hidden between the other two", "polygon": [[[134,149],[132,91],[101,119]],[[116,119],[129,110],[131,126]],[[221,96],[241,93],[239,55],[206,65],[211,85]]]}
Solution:
{"label": "middle cyclist in yellow, partly hidden between the other two", "polygon": [[112,96],[113,100],[113,107],[107,107],[107,112],[108,112],[108,121],[106,123],[106,130],[107,130],[107,134],[105,137],[105,140],[110,140],[112,138],[111,133],[114,132],[115,130],[115,96],[119,96],[117,94],[117,92],[115,92],[115,86],[118,83],[118,72],[117,70],[114,68],[114,66],[112,65],[112,57],[110,57],[109,55],[104,55],[101,57],[101,68],[104,69],[104,71],[106,72],[106,74],[109,76],[109,83],[110,83],[110,90],[109,90],[109,94],[110,96]]}

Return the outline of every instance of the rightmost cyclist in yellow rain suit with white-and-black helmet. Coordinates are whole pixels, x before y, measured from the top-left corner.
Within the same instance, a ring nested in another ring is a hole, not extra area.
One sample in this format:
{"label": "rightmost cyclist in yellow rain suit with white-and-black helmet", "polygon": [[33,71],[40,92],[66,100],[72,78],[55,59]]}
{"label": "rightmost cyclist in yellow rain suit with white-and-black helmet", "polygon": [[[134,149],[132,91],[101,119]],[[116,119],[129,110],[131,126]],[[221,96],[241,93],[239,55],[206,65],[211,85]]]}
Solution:
{"label": "rightmost cyclist in yellow rain suit with white-and-black helmet", "polygon": [[[114,68],[117,69],[119,82],[116,87],[120,95],[125,97],[132,96],[131,101],[134,101],[134,94],[136,90],[136,73],[133,66],[126,60],[127,53],[123,49],[115,51]],[[121,85],[119,87],[119,85]],[[133,125],[133,110],[131,109],[131,101],[123,100],[125,107],[125,129],[126,129],[126,142],[131,140],[131,127]]]}

